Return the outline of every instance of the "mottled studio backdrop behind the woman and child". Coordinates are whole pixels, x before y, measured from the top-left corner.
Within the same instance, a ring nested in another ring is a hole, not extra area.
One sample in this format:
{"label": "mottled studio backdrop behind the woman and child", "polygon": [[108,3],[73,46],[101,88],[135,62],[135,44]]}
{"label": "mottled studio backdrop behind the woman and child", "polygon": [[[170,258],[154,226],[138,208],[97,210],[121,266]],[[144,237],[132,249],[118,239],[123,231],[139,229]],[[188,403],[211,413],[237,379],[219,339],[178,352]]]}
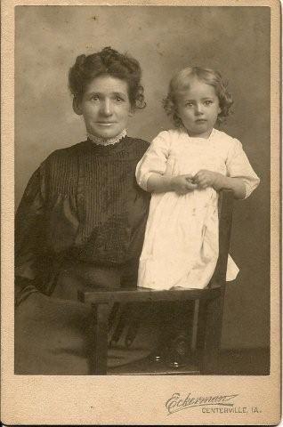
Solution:
{"label": "mottled studio backdrop behind the woman and child", "polygon": [[17,6],[15,180],[18,205],[29,176],[54,149],[85,139],[71,107],[68,71],[81,53],[111,46],[140,60],[147,108],[129,134],[150,141],[170,123],[169,79],[188,65],[218,69],[230,82],[234,115],[222,129],[242,141],[261,177],[235,203],[231,241],[239,278],[227,286],[222,344],[269,344],[270,10],[268,7]]}

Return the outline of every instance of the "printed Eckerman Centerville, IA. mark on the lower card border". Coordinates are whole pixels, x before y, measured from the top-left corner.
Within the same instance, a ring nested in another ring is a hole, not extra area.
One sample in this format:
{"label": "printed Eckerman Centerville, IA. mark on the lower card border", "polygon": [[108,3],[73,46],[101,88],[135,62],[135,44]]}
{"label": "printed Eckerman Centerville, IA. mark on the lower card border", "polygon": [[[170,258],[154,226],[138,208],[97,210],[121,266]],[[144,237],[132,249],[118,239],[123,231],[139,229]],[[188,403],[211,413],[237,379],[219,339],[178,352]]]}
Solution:
{"label": "printed Eckerman Centerville, IA. mark on the lower card border", "polygon": [[203,413],[220,413],[220,414],[247,414],[249,410],[252,413],[261,412],[257,407],[235,407],[234,399],[239,394],[216,394],[216,395],[200,395],[194,396],[189,393],[182,397],[180,393],[174,393],[170,399],[166,401],[166,409],[168,415],[182,411],[191,407],[201,407]]}

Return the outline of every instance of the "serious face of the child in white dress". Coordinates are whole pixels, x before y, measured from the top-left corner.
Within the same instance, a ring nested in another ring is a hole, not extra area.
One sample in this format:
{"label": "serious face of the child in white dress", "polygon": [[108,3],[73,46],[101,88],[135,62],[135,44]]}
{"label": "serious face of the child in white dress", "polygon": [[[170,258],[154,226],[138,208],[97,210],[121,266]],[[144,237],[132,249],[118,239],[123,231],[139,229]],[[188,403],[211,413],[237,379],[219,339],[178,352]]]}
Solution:
{"label": "serious face of the child in white dress", "polygon": [[177,115],[190,136],[208,138],[221,112],[214,86],[190,80],[190,89],[177,95]]}

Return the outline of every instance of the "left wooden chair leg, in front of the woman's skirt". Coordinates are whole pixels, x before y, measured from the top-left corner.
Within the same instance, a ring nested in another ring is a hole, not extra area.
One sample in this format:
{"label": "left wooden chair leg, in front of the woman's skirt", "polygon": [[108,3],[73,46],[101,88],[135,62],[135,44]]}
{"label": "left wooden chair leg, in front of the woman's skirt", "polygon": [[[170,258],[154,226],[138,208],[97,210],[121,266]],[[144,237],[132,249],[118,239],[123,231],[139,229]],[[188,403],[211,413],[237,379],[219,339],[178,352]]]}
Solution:
{"label": "left wooden chair leg, in front of the woman's skirt", "polygon": [[107,374],[109,304],[92,305],[90,327],[90,375]]}

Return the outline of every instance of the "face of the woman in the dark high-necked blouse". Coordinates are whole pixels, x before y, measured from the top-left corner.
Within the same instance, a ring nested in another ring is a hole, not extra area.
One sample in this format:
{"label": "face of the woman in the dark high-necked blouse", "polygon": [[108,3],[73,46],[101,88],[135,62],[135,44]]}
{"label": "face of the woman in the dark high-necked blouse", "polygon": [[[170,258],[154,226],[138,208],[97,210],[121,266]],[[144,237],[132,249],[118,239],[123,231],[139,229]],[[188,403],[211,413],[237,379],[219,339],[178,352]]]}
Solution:
{"label": "face of the woman in the dark high-necked blouse", "polygon": [[77,101],[75,111],[84,116],[88,133],[114,138],[133,116],[127,83],[109,75],[95,77],[86,86],[81,101]]}

